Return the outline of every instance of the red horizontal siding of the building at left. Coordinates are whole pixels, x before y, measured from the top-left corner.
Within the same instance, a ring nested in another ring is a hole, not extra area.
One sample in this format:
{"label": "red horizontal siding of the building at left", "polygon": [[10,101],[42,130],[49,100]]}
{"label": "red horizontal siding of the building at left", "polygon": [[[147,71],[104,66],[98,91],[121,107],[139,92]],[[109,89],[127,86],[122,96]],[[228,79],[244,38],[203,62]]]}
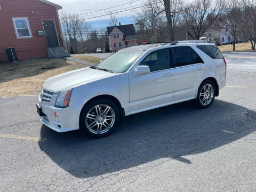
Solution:
{"label": "red horizontal siding of the building at left", "polygon": [[[46,38],[37,35],[37,30],[44,30],[42,20],[54,20],[60,46],[63,46],[55,6],[38,0],[0,0],[0,6],[0,58],[2,62],[8,62],[5,54],[7,47],[15,47],[19,60],[47,57]],[[28,18],[32,38],[17,38],[12,18],[21,17]]]}

